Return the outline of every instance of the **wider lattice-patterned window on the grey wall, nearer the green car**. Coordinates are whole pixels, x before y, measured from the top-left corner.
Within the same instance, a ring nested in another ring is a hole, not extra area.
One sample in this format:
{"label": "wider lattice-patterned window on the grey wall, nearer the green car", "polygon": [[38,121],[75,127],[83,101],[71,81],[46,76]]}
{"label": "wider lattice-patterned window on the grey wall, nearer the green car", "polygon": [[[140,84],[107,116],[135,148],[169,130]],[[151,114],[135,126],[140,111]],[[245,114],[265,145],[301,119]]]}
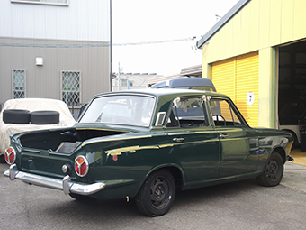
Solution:
{"label": "wider lattice-patterned window on the grey wall, nearer the green car", "polygon": [[80,106],[80,80],[78,71],[61,71],[62,100],[67,106]]}

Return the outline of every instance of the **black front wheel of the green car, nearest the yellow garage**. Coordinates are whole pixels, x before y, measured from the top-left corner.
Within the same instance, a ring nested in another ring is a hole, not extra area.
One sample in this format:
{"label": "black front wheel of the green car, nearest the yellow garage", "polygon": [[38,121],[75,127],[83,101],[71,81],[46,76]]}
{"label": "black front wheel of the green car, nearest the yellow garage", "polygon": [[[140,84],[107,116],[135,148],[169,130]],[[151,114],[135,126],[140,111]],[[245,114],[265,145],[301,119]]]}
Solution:
{"label": "black front wheel of the green car, nearest the yellow garage", "polygon": [[257,177],[258,182],[263,186],[276,186],[283,179],[284,161],[278,152],[272,152],[267,161],[266,169]]}

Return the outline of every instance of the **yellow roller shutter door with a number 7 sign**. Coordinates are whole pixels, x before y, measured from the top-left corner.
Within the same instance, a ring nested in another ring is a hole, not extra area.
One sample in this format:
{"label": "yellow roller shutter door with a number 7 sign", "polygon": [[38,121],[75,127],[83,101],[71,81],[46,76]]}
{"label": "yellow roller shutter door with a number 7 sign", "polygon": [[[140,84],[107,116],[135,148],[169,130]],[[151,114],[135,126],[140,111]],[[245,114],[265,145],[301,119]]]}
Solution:
{"label": "yellow roller shutter door with a number 7 sign", "polygon": [[217,91],[235,102],[250,126],[258,126],[258,69],[257,51],[211,66],[211,80]]}

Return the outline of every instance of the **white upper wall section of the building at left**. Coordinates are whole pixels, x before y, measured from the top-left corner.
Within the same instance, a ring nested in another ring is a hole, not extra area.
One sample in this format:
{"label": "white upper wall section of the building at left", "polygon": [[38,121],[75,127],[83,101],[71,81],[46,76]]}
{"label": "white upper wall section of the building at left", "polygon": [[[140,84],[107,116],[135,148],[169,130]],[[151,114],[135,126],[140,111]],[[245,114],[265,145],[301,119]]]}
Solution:
{"label": "white upper wall section of the building at left", "polygon": [[0,36],[110,41],[110,1],[70,0],[68,6],[60,6],[2,0]]}

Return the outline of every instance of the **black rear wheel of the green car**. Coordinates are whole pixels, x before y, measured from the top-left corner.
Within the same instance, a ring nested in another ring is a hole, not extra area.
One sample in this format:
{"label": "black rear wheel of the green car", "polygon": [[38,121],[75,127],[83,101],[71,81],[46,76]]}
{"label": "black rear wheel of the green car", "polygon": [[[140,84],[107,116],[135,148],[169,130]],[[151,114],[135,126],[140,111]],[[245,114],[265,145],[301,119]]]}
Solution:
{"label": "black rear wheel of the green car", "polygon": [[136,196],[139,211],[146,216],[162,216],[175,201],[175,179],[168,170],[153,172]]}

